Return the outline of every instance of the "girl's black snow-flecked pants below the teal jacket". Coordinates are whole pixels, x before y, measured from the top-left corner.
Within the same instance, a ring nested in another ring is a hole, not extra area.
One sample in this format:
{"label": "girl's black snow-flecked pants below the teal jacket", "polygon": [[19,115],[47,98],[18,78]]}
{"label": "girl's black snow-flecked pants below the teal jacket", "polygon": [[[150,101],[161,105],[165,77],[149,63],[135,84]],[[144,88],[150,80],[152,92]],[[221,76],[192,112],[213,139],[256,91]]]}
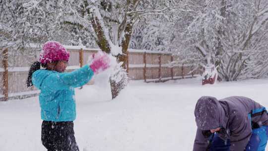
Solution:
{"label": "girl's black snow-flecked pants below the teal jacket", "polygon": [[41,140],[48,151],[79,151],[74,138],[72,121],[43,121]]}

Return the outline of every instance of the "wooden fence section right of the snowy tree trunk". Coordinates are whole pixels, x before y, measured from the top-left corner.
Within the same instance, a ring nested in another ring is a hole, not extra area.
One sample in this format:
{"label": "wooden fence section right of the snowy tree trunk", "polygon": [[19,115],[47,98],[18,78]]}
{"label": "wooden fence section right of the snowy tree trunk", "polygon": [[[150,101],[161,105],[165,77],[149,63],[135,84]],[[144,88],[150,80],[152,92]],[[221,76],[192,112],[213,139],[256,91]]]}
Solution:
{"label": "wooden fence section right of the snowy tree trunk", "polygon": [[200,73],[199,69],[193,71],[191,66],[169,67],[169,63],[177,58],[171,53],[129,49],[127,71],[131,79],[143,79],[145,82],[189,78]]}

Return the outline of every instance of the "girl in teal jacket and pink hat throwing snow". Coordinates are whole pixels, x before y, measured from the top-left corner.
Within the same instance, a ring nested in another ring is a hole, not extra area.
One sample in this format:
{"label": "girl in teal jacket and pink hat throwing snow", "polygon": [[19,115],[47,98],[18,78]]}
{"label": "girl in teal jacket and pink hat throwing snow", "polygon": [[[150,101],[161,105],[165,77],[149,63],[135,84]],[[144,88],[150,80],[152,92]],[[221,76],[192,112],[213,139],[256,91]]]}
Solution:
{"label": "girl in teal jacket and pink hat throwing snow", "polygon": [[107,69],[110,63],[109,57],[102,54],[94,57],[90,65],[64,73],[68,59],[69,53],[60,43],[49,41],[43,46],[40,62],[31,66],[27,79],[27,86],[40,89],[41,140],[48,151],[79,151],[73,131],[74,88],[86,84],[94,73]]}

